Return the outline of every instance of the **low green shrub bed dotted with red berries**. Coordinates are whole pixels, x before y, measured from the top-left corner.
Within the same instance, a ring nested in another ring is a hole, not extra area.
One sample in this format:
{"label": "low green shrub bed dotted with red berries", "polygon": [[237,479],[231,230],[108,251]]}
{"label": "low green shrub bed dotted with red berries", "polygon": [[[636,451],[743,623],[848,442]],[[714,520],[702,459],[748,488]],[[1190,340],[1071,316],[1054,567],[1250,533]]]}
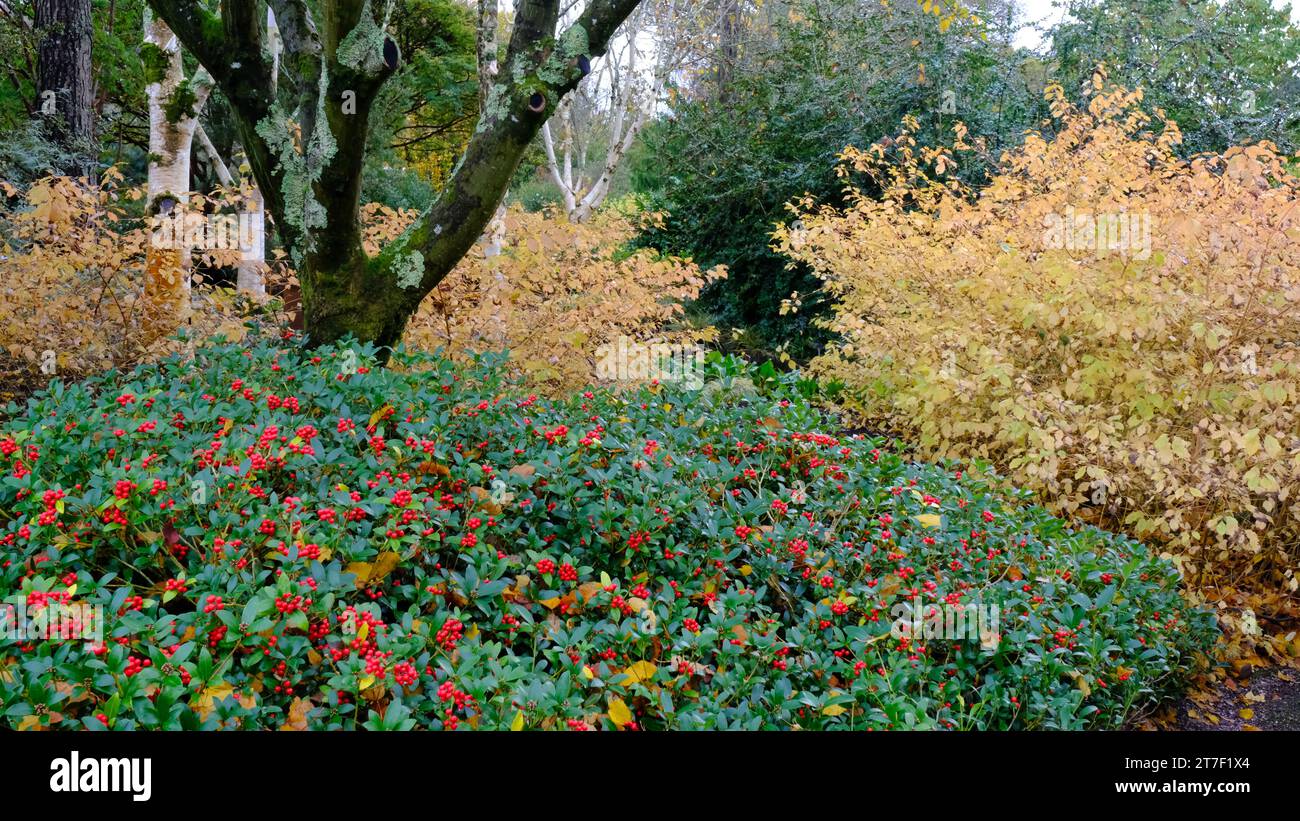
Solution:
{"label": "low green shrub bed dotted with red berries", "polygon": [[794,377],[552,401],[370,355],[255,335],[10,408],[0,591],[104,629],[0,639],[0,721],[1105,727],[1216,634],[1140,543],[837,433]]}

